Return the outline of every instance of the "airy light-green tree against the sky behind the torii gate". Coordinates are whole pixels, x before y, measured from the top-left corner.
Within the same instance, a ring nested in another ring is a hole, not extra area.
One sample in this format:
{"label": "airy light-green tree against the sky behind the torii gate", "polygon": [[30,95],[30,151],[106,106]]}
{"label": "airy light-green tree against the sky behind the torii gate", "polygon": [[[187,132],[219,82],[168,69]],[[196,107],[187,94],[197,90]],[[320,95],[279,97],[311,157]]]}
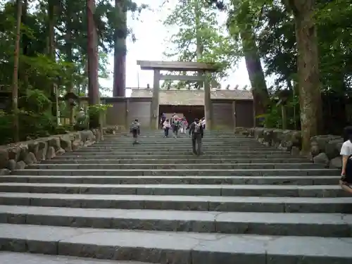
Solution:
{"label": "airy light-green tree against the sky behind the torii gate", "polygon": [[[227,36],[225,27],[218,23],[216,11],[208,8],[206,1],[177,2],[165,19],[164,25],[178,28],[177,32],[170,36],[169,48],[164,53],[168,58],[218,63],[220,73],[213,77],[226,75],[232,61],[236,60],[236,56],[233,56],[233,50],[236,49],[234,43]],[[196,86],[200,87],[199,84]]]}

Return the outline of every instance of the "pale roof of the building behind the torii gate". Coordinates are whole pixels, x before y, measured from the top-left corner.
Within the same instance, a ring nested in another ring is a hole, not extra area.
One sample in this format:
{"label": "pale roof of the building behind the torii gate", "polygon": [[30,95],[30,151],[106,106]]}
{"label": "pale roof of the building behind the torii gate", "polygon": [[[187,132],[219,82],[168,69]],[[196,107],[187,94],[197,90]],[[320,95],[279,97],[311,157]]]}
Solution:
{"label": "pale roof of the building behind the torii gate", "polygon": [[[153,89],[132,89],[131,97],[152,97]],[[211,99],[253,100],[251,91],[213,90]],[[204,90],[159,90],[159,104],[173,106],[203,106]]]}

